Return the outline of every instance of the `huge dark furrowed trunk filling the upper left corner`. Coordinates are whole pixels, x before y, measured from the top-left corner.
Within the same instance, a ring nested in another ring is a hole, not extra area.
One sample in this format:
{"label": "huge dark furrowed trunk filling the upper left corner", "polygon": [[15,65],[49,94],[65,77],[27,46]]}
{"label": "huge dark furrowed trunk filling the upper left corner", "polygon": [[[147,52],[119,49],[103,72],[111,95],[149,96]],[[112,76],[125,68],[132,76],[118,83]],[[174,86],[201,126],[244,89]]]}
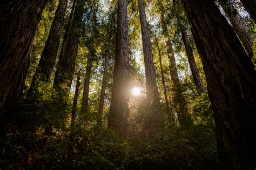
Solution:
{"label": "huge dark furrowed trunk filling the upper left corner", "polygon": [[45,0],[1,2],[0,7],[0,122],[8,119],[22,93],[29,69],[31,45]]}

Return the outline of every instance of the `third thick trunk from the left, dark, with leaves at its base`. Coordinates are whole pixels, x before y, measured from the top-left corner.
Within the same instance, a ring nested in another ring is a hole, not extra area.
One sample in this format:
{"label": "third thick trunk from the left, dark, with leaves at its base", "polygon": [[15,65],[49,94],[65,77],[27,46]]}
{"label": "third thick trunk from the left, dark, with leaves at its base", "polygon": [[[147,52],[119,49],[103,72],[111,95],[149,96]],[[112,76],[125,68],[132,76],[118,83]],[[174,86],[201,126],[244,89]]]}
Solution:
{"label": "third thick trunk from the left, dark, with leaves at its base", "polygon": [[75,72],[75,62],[79,43],[79,34],[82,26],[84,12],[84,1],[78,0],[73,14],[70,30],[65,32],[62,51],[60,52],[59,62],[55,74],[53,87],[62,87],[66,92],[70,91]]}

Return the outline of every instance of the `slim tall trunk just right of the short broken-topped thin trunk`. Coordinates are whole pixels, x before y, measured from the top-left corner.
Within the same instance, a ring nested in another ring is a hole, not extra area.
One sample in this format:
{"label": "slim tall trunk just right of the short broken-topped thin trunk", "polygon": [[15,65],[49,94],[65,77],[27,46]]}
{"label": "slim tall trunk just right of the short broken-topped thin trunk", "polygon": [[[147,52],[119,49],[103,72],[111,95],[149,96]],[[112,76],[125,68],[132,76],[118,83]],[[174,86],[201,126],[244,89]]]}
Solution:
{"label": "slim tall trunk just right of the short broken-topped thin trunk", "polygon": [[93,21],[92,21],[92,30],[91,30],[91,37],[90,37],[90,45],[89,45],[89,52],[87,55],[87,64],[86,64],[86,73],[85,73],[85,80],[84,80],[84,92],[81,104],[81,113],[83,114],[84,118],[86,118],[86,112],[88,107],[88,99],[89,99],[89,87],[90,87],[90,77],[91,77],[91,67],[92,67],[92,60],[94,54],[94,39],[95,39],[95,29],[96,29],[96,10],[97,10],[97,3],[96,0],[93,2]]}

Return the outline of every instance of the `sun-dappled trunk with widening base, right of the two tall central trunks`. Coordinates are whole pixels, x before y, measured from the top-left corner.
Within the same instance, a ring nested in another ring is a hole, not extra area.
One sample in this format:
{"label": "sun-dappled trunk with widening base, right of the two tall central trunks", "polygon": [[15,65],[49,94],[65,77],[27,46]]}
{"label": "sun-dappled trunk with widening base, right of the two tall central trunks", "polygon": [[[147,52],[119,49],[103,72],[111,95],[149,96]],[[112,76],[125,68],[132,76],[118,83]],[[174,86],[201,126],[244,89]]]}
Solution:
{"label": "sun-dappled trunk with widening base, right of the two tall central trunks", "polygon": [[176,108],[178,114],[179,124],[183,127],[192,125],[191,115],[187,111],[186,102],[184,100],[183,94],[181,93],[180,89],[180,81],[178,76],[178,70],[176,67],[176,60],[174,57],[172,42],[169,37],[169,32],[167,30],[167,25],[164,18],[164,13],[161,12],[161,25],[163,28],[163,34],[166,39],[167,44],[167,55],[170,59],[170,72],[171,72],[171,79],[173,85],[173,92],[174,92],[174,107]]}

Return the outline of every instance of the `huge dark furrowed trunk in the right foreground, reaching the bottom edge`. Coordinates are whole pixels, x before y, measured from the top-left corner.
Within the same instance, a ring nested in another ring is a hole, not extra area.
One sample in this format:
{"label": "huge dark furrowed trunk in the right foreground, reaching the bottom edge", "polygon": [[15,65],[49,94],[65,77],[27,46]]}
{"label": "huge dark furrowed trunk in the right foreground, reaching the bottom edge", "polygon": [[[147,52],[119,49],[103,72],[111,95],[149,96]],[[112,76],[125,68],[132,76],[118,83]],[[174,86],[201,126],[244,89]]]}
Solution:
{"label": "huge dark furrowed trunk in the right foreground, reaching the bottom edge", "polygon": [[223,169],[255,169],[256,73],[213,0],[182,0],[202,59]]}

